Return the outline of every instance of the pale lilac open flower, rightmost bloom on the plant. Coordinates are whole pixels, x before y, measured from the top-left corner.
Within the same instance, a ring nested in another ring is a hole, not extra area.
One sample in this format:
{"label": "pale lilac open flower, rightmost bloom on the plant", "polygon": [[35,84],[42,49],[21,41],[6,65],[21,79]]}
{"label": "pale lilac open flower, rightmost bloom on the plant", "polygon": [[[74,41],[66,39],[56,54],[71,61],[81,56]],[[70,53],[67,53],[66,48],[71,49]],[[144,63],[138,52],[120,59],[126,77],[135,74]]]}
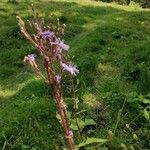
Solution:
{"label": "pale lilac open flower, rightmost bloom on the plant", "polygon": [[63,70],[68,71],[71,75],[75,75],[79,73],[79,70],[76,68],[77,66],[73,63],[65,64],[61,63],[61,66],[63,67]]}

